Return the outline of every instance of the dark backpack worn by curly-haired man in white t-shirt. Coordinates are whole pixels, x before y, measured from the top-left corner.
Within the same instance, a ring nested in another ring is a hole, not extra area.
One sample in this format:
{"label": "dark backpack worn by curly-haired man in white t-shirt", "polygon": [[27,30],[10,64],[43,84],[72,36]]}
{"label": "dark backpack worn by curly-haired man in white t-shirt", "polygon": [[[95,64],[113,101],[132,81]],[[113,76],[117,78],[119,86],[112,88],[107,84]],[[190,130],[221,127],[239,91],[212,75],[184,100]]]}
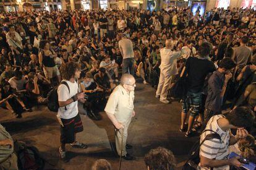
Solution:
{"label": "dark backpack worn by curly-haired man in white t-shirt", "polygon": [[[65,81],[62,81],[61,83],[59,83],[59,85],[66,85],[66,87],[69,89],[69,85]],[[58,109],[59,109],[58,87],[59,87],[59,85],[57,87],[53,88],[51,91],[49,91],[49,93],[47,95],[47,99],[48,99],[47,107],[48,107],[49,111],[58,112]],[[70,89],[69,89],[69,93],[70,93]],[[65,109],[67,109],[66,106],[65,106]]]}

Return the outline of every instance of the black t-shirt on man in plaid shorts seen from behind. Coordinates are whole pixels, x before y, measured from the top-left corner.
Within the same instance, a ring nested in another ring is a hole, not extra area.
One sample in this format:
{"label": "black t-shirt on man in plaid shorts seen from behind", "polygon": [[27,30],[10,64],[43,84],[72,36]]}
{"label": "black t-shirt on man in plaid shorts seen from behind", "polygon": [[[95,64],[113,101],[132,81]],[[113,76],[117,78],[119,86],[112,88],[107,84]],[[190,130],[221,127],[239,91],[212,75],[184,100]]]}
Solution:
{"label": "black t-shirt on man in plaid shorts seen from behind", "polygon": [[188,74],[188,90],[192,93],[202,91],[205,77],[210,72],[216,70],[215,65],[208,59],[199,59],[198,57],[189,57],[186,62],[186,72]]}

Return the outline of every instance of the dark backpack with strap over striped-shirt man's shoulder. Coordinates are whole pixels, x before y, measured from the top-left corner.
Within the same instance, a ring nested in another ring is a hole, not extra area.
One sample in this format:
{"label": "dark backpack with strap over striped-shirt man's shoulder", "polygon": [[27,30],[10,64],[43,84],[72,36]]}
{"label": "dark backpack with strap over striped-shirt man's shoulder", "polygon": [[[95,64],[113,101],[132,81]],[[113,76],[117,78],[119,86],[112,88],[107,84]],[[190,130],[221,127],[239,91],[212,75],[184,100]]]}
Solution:
{"label": "dark backpack with strap over striped-shirt man's shoulder", "polygon": [[[203,130],[203,132],[211,131],[213,134],[208,134],[200,143],[200,139],[193,145],[191,150],[189,151],[189,159],[187,159],[186,163],[182,167],[182,170],[194,170],[197,169],[198,164],[200,163],[200,147],[205,142],[205,140],[211,140],[212,138],[217,138],[221,141],[221,137],[219,134],[214,132],[213,130],[207,129]],[[202,134],[203,134],[202,132]]]}

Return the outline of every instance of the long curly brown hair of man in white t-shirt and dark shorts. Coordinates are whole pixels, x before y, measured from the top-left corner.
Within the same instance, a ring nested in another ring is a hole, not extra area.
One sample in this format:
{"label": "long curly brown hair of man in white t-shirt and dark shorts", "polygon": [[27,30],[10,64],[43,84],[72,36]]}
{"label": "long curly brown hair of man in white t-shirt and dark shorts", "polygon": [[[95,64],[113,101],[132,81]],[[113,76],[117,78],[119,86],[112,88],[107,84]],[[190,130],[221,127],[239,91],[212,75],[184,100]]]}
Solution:
{"label": "long curly brown hair of man in white t-shirt and dark shorts", "polygon": [[80,69],[80,65],[77,62],[67,62],[66,64],[62,64],[59,69],[61,72],[62,79],[70,80],[75,76],[75,71]]}

